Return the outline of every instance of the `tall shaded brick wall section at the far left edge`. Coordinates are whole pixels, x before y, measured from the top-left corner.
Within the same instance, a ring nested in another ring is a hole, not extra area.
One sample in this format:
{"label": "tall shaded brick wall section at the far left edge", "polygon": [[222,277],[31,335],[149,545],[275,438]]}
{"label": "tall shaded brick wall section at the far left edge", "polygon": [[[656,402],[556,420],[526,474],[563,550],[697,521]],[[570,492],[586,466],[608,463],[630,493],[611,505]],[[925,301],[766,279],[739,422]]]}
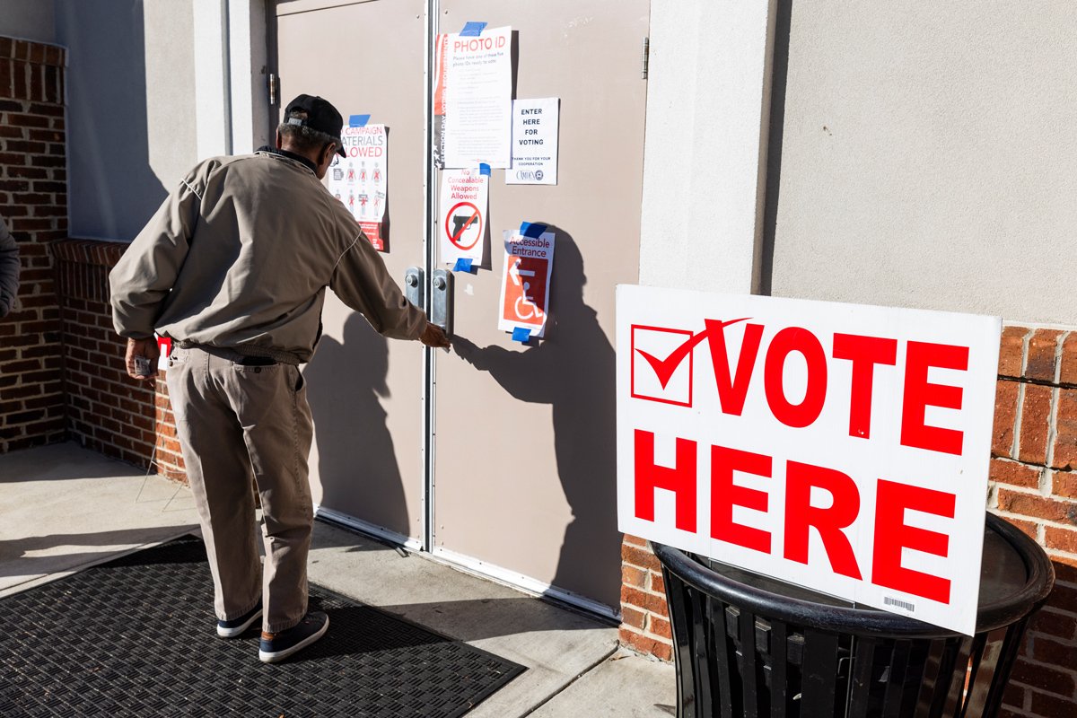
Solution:
{"label": "tall shaded brick wall section at the far left edge", "polygon": [[48,253],[67,235],[65,64],[61,47],[0,38],[0,216],[22,262],[18,302],[0,319],[0,453],[65,436]]}

